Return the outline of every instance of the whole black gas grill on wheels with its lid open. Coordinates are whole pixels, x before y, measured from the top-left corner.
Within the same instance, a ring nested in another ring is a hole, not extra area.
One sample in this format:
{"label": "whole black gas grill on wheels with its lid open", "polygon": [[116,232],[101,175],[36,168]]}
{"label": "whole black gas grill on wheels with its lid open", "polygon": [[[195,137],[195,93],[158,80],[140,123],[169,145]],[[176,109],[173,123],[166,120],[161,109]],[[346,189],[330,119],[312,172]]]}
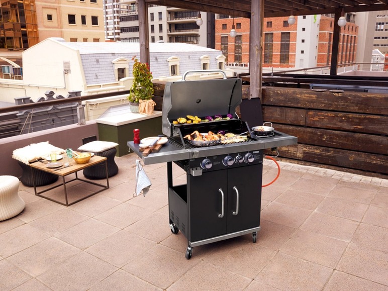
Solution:
{"label": "whole black gas grill on wheels with its lid open", "polygon": [[[222,72],[222,71],[221,71]],[[222,72],[223,73],[223,72]],[[241,79],[185,80],[165,85],[162,132],[168,142],[161,150],[143,157],[138,144],[127,143],[144,164],[167,163],[169,224],[187,238],[186,259],[193,247],[245,234],[255,243],[260,230],[263,150],[297,143],[297,138],[278,131],[273,136],[251,133],[236,115],[242,101]],[[175,124],[178,118],[228,114],[232,119]],[[258,112],[257,114],[261,114]],[[257,126],[257,125],[254,125]],[[195,146],[184,137],[194,131],[248,132],[236,143]],[[172,162],[186,172],[186,184],[174,185]]]}

